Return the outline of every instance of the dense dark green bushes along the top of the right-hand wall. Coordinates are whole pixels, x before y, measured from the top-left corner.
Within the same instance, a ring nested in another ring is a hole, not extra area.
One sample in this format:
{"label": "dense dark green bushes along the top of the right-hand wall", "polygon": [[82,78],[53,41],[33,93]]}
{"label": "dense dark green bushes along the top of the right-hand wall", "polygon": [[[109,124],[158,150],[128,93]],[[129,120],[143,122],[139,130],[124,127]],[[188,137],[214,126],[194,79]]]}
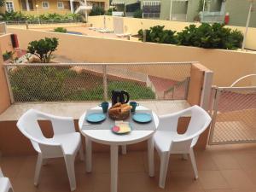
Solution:
{"label": "dense dark green bushes along the top of the right-hand wall", "polygon": [[[186,26],[182,32],[164,30],[165,26],[153,26],[146,30],[146,41],[159,44],[178,44],[206,49],[238,49],[241,48],[243,35],[237,30],[224,27],[223,24],[212,25],[202,23],[201,26]],[[138,32],[143,40],[143,30]]]}

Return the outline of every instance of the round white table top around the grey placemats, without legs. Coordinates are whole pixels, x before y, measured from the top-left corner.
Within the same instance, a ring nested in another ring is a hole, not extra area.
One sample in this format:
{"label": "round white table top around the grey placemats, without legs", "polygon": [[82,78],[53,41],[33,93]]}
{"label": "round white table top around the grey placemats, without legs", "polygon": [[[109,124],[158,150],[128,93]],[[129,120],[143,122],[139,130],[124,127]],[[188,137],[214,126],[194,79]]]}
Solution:
{"label": "round white table top around the grey placemats, without legs", "polygon": [[[93,109],[101,109],[101,107],[96,107]],[[143,106],[138,106],[137,110],[146,110]],[[159,119],[156,113],[152,111],[154,118],[154,124],[157,128],[159,125]],[[108,145],[126,145],[132,143],[142,142],[154,134],[154,131],[131,131],[129,134],[117,135],[114,134],[111,130],[82,130],[84,124],[84,118],[86,112],[82,114],[79,118],[79,131],[84,137],[89,137],[91,141],[96,143],[108,144]]]}

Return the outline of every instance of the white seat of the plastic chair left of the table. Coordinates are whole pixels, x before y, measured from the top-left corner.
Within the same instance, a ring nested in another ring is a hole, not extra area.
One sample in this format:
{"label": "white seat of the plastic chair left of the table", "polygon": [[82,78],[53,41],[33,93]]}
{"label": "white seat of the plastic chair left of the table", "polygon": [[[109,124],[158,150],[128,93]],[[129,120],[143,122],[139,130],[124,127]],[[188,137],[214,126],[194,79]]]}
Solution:
{"label": "white seat of the plastic chair left of the table", "polygon": [[54,143],[61,143],[64,154],[74,154],[74,152],[79,148],[81,136],[79,132],[73,132],[55,135],[55,137],[51,138],[51,140]]}

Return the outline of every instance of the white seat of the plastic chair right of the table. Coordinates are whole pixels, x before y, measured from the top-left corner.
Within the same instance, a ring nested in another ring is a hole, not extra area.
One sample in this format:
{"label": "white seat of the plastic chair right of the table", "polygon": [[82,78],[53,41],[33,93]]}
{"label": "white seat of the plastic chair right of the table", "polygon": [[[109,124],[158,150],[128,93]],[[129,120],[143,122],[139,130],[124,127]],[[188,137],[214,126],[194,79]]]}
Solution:
{"label": "white seat of the plastic chair right of the table", "polygon": [[183,138],[185,135],[174,131],[156,131],[154,134],[154,145],[160,152],[169,152],[173,138]]}

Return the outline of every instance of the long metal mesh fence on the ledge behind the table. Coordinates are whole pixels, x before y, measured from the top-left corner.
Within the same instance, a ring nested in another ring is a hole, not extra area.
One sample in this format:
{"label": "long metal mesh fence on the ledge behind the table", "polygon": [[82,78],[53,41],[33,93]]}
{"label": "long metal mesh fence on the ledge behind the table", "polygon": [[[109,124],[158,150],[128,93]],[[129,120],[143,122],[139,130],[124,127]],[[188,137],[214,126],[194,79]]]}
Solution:
{"label": "long metal mesh fence on the ledge behind the table", "polygon": [[131,99],[186,99],[191,63],[8,64],[14,102],[110,100],[112,90]]}

